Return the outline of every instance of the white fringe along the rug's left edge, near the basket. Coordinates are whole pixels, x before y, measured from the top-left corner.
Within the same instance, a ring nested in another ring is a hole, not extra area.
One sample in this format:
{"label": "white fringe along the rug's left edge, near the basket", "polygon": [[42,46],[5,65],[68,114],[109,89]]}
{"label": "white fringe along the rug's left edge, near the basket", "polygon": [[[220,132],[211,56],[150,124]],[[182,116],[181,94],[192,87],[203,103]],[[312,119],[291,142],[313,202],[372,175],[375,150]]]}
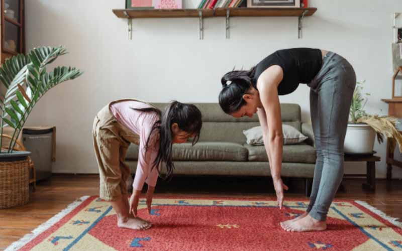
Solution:
{"label": "white fringe along the rug's left edge, near the basket", "polygon": [[74,210],[77,206],[79,206],[84,200],[89,198],[89,196],[82,196],[81,198],[75,200],[71,204],[67,206],[67,208],[64,208],[61,210],[59,213],[57,213],[55,216],[47,220],[46,222],[42,223],[39,225],[37,228],[32,230],[30,233],[27,233],[22,237],[21,239],[13,242],[9,247],[6,248],[5,251],[12,251],[12,250],[18,250],[19,248],[23,247],[25,244],[36,238],[39,234],[43,233],[46,231],[49,227],[53,226],[56,222],[58,222],[61,218],[63,218],[65,215],[67,215],[69,212]]}

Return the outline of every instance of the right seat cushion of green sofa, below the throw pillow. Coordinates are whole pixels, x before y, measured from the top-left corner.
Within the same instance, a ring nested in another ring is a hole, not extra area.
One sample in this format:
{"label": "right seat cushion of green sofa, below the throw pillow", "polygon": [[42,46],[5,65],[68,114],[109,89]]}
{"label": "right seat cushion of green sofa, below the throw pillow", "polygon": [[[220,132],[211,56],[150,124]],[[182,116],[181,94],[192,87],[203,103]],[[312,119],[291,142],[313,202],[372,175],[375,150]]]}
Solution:
{"label": "right seat cushion of green sofa, below the throw pillow", "polygon": [[[249,161],[268,161],[264,146],[245,144],[244,147],[248,149]],[[283,146],[282,162],[315,163],[316,149],[305,143]]]}

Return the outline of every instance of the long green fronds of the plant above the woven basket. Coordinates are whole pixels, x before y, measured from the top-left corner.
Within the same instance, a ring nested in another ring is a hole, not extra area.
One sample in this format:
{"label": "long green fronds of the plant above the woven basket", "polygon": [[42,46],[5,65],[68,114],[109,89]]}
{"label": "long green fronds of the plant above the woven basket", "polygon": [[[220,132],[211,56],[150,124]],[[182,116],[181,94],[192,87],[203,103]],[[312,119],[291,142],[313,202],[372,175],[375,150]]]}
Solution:
{"label": "long green fronds of the plant above the woven basket", "polygon": [[[28,55],[19,54],[6,60],[0,68],[0,81],[7,90],[0,100],[0,136],[5,127],[14,129],[7,153],[13,153],[17,137],[39,99],[53,86],[82,74],[78,69],[65,66],[46,71],[47,65],[66,53],[62,46],[35,48]],[[3,146],[3,137],[0,137],[0,146]]]}

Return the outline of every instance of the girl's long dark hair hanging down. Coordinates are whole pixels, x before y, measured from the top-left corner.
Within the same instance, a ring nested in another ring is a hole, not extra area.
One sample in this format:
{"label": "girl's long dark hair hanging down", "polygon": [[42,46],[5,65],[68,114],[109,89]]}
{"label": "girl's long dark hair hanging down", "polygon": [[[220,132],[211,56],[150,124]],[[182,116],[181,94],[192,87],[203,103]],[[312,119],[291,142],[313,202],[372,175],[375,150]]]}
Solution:
{"label": "girl's long dark hair hanging down", "polygon": [[193,104],[184,104],[178,101],[170,102],[166,106],[163,113],[159,109],[153,107],[142,108],[142,109],[133,108],[133,109],[143,112],[156,112],[160,117],[160,119],[157,120],[152,126],[145,149],[146,151],[148,151],[149,140],[151,139],[151,135],[154,132],[158,132],[159,151],[153,162],[152,168],[156,167],[160,174],[164,166],[166,168],[166,175],[163,178],[170,179],[173,175],[173,169],[174,169],[174,164],[172,160],[172,144],[173,144],[173,135],[171,129],[172,124],[177,123],[180,130],[188,134],[195,134],[195,137],[192,139],[192,145],[195,145],[198,142],[201,127],[203,126],[201,112]]}

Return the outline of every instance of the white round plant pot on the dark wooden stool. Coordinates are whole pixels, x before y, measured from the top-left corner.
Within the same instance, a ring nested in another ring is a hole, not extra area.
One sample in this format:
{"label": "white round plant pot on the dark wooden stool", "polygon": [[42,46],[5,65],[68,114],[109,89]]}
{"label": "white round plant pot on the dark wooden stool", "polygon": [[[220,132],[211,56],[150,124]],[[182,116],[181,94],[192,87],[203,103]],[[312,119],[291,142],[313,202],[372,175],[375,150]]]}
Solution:
{"label": "white round plant pot on the dark wooden stool", "polygon": [[345,153],[371,154],[374,148],[375,131],[365,123],[348,124]]}

